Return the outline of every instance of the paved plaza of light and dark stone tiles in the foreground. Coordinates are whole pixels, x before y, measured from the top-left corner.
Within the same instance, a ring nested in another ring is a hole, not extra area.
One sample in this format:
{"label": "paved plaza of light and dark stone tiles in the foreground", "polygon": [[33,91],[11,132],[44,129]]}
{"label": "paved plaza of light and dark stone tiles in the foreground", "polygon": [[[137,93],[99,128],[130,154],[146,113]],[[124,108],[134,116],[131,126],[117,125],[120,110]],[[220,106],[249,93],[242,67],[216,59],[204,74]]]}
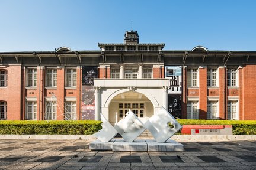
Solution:
{"label": "paved plaza of light and dark stone tiles in the foreground", "polygon": [[256,141],[181,142],[184,152],[90,151],[91,140],[0,140],[0,169],[256,169]]}

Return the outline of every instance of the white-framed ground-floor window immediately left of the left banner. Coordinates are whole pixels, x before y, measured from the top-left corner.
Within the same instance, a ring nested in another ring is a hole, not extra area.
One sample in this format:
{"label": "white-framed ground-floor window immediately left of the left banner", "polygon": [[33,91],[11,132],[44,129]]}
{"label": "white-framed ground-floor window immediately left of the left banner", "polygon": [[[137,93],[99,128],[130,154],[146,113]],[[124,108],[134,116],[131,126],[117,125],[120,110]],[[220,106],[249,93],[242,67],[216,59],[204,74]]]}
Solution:
{"label": "white-framed ground-floor window immediately left of the left banner", "polygon": [[74,97],[65,97],[65,120],[77,120],[76,106],[76,99]]}

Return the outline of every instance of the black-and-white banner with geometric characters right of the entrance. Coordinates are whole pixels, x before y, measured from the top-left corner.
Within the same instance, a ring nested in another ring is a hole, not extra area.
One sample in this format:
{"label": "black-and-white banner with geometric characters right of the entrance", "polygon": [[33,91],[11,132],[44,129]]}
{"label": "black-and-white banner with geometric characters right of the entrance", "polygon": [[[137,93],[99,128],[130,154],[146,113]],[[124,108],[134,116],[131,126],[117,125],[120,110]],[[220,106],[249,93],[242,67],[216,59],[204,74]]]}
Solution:
{"label": "black-and-white banner with geometric characters right of the entrance", "polygon": [[165,66],[165,78],[169,79],[168,111],[181,119],[181,66]]}

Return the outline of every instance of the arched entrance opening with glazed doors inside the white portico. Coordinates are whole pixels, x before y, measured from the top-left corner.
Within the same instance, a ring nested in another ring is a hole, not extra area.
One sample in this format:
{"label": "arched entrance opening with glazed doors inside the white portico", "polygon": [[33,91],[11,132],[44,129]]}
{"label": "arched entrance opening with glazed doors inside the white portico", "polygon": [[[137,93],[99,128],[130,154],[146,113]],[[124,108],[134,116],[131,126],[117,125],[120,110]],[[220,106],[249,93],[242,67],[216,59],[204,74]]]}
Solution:
{"label": "arched entrance opening with glazed doors inside the white portico", "polygon": [[135,91],[128,91],[113,97],[111,100],[108,113],[109,122],[114,125],[123,119],[128,110],[132,110],[142,122],[146,121],[154,113],[154,107],[151,100],[144,94]]}

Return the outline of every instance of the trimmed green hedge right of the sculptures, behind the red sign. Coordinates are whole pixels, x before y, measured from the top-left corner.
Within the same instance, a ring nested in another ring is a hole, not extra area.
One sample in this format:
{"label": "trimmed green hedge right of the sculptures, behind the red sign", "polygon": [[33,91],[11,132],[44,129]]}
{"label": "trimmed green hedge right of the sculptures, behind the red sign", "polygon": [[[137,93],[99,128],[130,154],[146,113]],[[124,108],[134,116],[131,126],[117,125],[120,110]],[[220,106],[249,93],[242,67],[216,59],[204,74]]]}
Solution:
{"label": "trimmed green hedge right of the sculptures, behind the red sign", "polygon": [[233,135],[256,135],[256,120],[177,120],[181,125],[232,125]]}

